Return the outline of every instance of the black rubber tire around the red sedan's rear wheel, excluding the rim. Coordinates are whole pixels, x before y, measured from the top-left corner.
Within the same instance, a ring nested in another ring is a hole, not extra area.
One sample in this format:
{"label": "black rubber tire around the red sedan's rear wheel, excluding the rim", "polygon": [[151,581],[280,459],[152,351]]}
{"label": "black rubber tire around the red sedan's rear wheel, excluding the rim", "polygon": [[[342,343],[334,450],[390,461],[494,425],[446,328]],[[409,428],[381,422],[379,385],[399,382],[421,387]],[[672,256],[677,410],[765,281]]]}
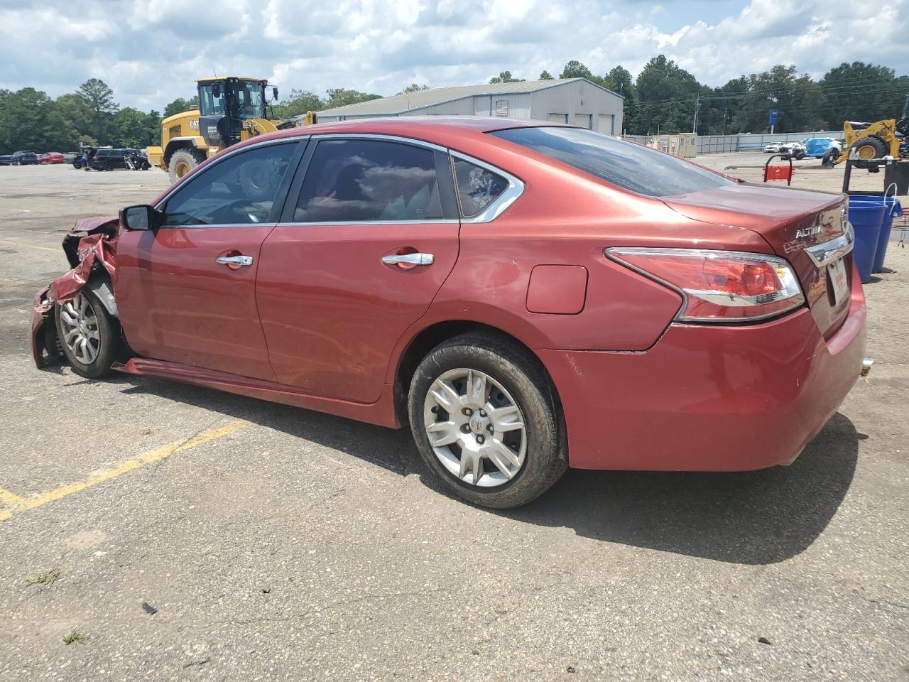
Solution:
{"label": "black rubber tire around the red sedan's rear wheel, excluding the rim", "polygon": [[[524,463],[501,485],[474,486],[456,476],[442,465],[426,434],[425,399],[431,386],[445,372],[461,368],[492,377],[514,398],[523,416]],[[544,370],[534,356],[506,339],[464,334],[436,346],[416,368],[407,406],[411,432],[426,466],[448,491],[474,505],[494,509],[525,505],[548,490],[567,467],[564,423]]]}

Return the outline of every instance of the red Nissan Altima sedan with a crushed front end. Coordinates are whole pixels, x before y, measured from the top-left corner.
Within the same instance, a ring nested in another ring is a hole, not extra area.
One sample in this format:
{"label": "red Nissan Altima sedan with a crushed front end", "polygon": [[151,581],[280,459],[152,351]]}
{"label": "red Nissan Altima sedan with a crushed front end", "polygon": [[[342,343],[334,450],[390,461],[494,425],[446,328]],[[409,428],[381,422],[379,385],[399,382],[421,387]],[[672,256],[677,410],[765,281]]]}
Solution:
{"label": "red Nissan Altima sedan with a crushed front end", "polygon": [[77,224],[35,359],[409,425],[484,506],[787,464],[866,362],[845,201],[564,125],[286,130]]}

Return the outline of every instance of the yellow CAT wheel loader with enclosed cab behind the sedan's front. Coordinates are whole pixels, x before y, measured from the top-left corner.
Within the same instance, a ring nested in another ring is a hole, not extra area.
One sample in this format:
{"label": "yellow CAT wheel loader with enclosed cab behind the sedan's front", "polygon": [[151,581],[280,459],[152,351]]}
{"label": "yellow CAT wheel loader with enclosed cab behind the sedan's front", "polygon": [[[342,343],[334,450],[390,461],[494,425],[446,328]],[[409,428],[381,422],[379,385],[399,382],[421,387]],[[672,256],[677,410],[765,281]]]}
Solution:
{"label": "yellow CAT wheel loader with enclosed cab behind the sedan's front", "polygon": [[195,83],[199,108],[167,116],[161,122],[161,145],[146,150],[148,163],[167,171],[172,183],[227,146],[318,121],[315,111],[285,121],[268,116],[269,99],[277,100],[278,89],[269,93],[264,78],[216,75]]}

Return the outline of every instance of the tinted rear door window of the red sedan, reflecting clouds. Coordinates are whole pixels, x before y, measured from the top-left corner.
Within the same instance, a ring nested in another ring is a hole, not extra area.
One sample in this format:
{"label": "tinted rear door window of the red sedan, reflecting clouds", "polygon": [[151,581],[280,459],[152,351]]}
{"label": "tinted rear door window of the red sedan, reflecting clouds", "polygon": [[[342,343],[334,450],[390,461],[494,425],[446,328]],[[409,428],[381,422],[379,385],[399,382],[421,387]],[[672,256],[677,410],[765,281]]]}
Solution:
{"label": "tinted rear door window of the red sedan, reflecting clouds", "polygon": [[295,223],[442,218],[435,152],[379,140],[323,140],[306,169]]}

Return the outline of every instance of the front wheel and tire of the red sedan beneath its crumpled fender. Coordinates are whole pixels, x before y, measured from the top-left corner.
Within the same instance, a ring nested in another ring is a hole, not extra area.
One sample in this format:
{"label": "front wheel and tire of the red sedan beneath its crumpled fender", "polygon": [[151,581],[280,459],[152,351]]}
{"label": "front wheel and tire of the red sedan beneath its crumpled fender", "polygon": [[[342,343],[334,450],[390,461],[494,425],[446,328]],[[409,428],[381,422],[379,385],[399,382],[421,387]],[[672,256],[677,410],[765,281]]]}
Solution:
{"label": "front wheel and tire of the red sedan beneath its crumpled fender", "polygon": [[120,323],[95,292],[79,291],[55,306],[57,339],[66,361],[79,376],[96,379],[111,374],[120,345]]}

